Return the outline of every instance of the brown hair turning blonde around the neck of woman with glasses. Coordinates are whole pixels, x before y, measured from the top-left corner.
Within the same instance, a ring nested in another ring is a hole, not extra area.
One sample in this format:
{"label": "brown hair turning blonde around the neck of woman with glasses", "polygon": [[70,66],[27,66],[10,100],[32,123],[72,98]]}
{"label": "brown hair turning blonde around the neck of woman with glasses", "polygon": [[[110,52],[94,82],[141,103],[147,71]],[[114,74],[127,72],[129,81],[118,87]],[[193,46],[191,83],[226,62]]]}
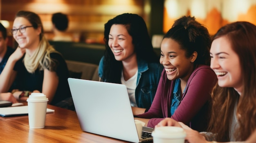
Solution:
{"label": "brown hair turning blonde around the neck of woman with glasses", "polygon": [[54,71],[57,61],[53,61],[53,59],[50,58],[50,53],[58,52],[49,44],[49,42],[43,35],[43,24],[40,20],[40,17],[36,13],[31,11],[19,11],[18,13],[16,13],[15,18],[18,17],[26,18],[32,24],[34,29],[41,27],[41,33],[39,36],[40,42],[38,48],[31,56],[26,53],[23,59],[27,71],[29,73],[34,73],[36,69],[49,69],[50,71]]}

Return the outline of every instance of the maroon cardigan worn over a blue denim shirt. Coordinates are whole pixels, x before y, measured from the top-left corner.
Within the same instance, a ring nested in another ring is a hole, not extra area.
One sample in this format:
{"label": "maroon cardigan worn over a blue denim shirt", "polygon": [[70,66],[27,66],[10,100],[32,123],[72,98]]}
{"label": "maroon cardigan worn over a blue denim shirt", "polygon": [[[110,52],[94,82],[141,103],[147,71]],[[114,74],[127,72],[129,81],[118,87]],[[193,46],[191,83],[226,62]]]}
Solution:
{"label": "maroon cardigan worn over a blue denim shirt", "polygon": [[150,119],[148,127],[151,128],[154,128],[164,118],[171,117],[176,121],[189,125],[193,130],[205,131],[209,122],[211,90],[216,82],[216,74],[209,66],[197,66],[189,77],[180,105],[171,116],[170,109],[175,80],[168,80],[166,71],[163,70],[150,109],[148,112],[136,116]]}

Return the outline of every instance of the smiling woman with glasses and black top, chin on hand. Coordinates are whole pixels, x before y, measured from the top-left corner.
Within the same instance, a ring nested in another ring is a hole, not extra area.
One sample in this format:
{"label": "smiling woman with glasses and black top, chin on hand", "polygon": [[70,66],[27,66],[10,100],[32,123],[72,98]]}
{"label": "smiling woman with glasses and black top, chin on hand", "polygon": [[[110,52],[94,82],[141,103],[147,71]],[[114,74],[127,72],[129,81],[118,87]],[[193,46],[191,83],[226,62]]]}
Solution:
{"label": "smiling woman with glasses and black top, chin on hand", "polygon": [[[19,11],[11,33],[18,48],[0,75],[0,92],[12,90],[14,97],[22,101],[26,101],[31,92],[42,92],[52,105],[70,97],[67,65],[44,37],[39,16]],[[10,89],[14,80],[15,86]]]}

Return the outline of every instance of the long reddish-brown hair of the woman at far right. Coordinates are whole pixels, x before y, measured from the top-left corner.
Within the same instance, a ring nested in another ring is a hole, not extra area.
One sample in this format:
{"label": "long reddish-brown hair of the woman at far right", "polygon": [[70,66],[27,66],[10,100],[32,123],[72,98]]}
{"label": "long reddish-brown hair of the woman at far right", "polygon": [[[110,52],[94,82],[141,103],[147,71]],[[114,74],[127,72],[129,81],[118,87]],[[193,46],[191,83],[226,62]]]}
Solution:
{"label": "long reddish-brown hair of the woman at far right", "polygon": [[213,40],[227,37],[232,49],[239,57],[243,88],[241,95],[234,88],[213,89],[213,107],[209,131],[217,133],[217,141],[229,141],[229,132],[238,101],[235,130],[236,141],[245,141],[256,128],[256,26],[249,22],[234,22],[218,30]]}

